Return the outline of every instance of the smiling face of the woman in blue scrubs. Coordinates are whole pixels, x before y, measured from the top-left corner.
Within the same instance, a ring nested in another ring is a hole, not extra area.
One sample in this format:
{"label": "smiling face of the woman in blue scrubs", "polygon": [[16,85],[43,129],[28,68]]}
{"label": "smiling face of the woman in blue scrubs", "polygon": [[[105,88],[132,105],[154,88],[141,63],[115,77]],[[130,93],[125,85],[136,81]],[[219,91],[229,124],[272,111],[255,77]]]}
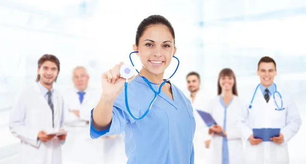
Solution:
{"label": "smiling face of the woman in blue scrubs", "polygon": [[133,45],[142,67],[147,72],[160,75],[169,66],[175,54],[174,39],[165,25],[151,25],[146,28],[139,39],[139,44]]}

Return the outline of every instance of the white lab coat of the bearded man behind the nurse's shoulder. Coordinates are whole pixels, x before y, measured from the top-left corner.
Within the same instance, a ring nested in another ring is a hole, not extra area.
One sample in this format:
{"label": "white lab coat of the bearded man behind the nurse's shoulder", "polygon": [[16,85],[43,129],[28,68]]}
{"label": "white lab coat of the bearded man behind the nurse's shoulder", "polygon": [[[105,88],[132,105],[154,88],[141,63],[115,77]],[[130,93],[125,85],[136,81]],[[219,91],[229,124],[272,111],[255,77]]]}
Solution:
{"label": "white lab coat of the bearded man behind the nurse's shoulder", "polygon": [[[191,95],[189,94],[188,99],[192,103]],[[194,163],[206,164],[209,160],[209,149],[205,147],[205,141],[211,139],[208,135],[208,127],[205,122],[202,120],[201,116],[196,112],[196,110],[206,111],[207,103],[209,102],[210,97],[198,91],[196,93],[194,102],[192,103],[194,119],[195,119],[195,133],[193,138],[193,147],[194,147]]]}

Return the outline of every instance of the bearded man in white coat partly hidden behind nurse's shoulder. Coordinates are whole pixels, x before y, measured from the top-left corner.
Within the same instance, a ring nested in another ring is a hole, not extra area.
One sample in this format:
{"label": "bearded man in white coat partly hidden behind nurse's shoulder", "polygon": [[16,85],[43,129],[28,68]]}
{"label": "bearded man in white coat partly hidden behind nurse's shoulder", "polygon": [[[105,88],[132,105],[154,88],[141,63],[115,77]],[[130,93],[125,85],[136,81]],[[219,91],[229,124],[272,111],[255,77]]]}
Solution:
{"label": "bearded man in white coat partly hidden behind nurse's shoulder", "polygon": [[196,122],[196,129],[194,133],[194,162],[207,163],[209,161],[208,149],[211,143],[211,138],[208,135],[208,127],[202,120],[196,110],[206,110],[206,105],[210,100],[209,96],[200,90],[200,75],[196,72],[190,72],[186,76],[187,87],[190,91],[188,96],[194,111],[194,118]]}

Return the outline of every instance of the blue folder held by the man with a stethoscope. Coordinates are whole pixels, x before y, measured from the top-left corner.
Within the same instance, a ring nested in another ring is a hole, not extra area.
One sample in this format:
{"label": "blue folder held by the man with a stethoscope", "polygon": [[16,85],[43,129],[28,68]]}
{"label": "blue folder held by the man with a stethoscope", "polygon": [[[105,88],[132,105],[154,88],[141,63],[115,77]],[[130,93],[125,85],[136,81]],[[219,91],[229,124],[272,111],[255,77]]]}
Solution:
{"label": "blue folder held by the man with a stethoscope", "polygon": [[271,142],[270,138],[279,137],[280,128],[253,128],[253,138],[262,139],[263,142]]}

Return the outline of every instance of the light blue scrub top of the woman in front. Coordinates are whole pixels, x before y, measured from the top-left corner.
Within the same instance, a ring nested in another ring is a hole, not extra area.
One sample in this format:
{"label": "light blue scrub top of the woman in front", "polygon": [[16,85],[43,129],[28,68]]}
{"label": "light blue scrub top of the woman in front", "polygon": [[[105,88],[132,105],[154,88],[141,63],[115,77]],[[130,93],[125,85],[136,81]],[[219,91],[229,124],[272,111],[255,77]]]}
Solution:
{"label": "light blue scrub top of the woman in front", "polygon": [[[158,91],[158,86],[152,85]],[[90,123],[91,138],[118,135],[124,132],[127,163],[186,164],[194,163],[193,136],[195,120],[190,101],[171,84],[174,101],[163,91],[148,114],[134,120],[125,107],[124,90],[113,105],[113,118],[107,130],[97,131]],[[145,81],[136,76],[127,88],[132,114],[140,117],[154,98]]]}

